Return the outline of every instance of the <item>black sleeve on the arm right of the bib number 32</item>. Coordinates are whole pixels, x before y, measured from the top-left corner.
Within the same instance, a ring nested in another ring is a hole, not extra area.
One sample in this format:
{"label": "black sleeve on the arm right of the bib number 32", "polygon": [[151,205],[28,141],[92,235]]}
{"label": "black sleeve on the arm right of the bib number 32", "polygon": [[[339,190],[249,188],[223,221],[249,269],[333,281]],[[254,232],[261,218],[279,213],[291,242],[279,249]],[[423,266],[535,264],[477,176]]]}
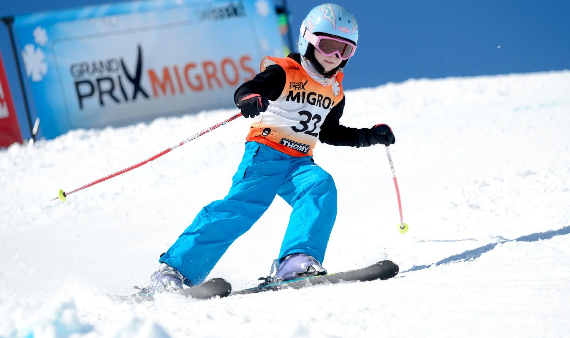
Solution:
{"label": "black sleeve on the arm right of the bib number 32", "polygon": [[330,145],[370,146],[367,141],[368,128],[351,128],[340,124],[343,116],[345,97],[328,113],[321,125],[319,140]]}

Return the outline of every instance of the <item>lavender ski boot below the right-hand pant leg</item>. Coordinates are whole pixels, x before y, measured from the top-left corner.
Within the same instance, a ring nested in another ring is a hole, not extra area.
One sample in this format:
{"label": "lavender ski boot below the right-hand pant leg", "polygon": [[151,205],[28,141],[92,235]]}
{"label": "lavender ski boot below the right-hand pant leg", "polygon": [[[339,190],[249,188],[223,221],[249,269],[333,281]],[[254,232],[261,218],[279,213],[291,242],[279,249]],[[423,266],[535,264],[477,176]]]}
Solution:
{"label": "lavender ski boot below the right-hand pant leg", "polygon": [[263,280],[259,286],[326,274],[327,270],[313,256],[291,254],[285,256],[281,263],[279,263],[278,259],[275,259],[271,266],[270,275],[259,278],[259,280]]}

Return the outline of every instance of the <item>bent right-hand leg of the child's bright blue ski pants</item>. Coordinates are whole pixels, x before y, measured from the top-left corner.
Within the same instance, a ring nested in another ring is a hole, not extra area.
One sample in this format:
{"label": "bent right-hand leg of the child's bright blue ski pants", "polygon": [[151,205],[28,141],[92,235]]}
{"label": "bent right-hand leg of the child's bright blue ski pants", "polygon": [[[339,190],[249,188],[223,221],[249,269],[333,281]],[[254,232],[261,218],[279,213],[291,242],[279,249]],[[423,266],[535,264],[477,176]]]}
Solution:
{"label": "bent right-hand leg of the child's bright blue ski pants", "polygon": [[332,176],[309,157],[292,162],[278,194],[293,207],[279,253],[302,253],[323,262],[336,219],[336,186]]}

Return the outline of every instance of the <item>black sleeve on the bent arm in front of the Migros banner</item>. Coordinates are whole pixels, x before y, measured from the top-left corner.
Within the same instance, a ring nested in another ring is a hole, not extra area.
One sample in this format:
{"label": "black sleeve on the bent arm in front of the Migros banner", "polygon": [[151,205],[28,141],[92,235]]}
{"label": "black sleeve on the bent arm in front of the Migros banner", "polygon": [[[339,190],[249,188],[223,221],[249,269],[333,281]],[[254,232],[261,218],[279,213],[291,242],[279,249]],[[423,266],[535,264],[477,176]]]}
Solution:
{"label": "black sleeve on the bent arm in front of the Migros banner", "polygon": [[272,64],[263,72],[255,75],[255,78],[240,85],[234,93],[234,102],[238,104],[244,95],[251,93],[259,94],[271,101],[275,101],[283,92],[286,79],[287,76],[283,68],[278,64]]}

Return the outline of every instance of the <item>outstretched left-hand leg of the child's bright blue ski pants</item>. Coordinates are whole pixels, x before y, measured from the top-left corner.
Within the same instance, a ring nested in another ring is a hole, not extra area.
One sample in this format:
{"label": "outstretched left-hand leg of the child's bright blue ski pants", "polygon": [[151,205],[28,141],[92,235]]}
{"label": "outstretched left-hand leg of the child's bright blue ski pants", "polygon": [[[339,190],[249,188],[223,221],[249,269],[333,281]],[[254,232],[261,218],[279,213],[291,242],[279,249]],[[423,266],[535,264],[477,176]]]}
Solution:
{"label": "outstretched left-hand leg of the child's bright blue ski pants", "polygon": [[202,283],[231,243],[253,226],[275,198],[288,163],[274,152],[248,142],[230,192],[203,207],[160,262],[176,268],[194,285]]}

